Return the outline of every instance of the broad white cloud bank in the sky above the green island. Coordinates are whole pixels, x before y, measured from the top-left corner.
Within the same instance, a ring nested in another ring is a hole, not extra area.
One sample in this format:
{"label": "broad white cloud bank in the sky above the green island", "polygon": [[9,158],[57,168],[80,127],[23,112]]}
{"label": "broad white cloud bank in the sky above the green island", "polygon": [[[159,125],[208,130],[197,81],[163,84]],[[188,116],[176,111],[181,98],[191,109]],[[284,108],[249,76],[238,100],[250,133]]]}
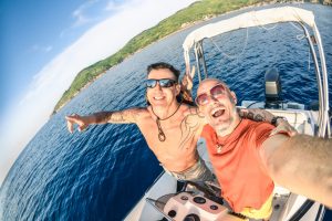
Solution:
{"label": "broad white cloud bank in the sky above the green island", "polygon": [[[0,183],[18,154],[46,123],[55,103],[79,71],[113,54],[134,35],[191,2],[194,0],[131,0],[122,4],[122,10],[114,17],[86,31],[46,64],[0,125]],[[82,10],[76,11],[76,17],[80,15]]]}

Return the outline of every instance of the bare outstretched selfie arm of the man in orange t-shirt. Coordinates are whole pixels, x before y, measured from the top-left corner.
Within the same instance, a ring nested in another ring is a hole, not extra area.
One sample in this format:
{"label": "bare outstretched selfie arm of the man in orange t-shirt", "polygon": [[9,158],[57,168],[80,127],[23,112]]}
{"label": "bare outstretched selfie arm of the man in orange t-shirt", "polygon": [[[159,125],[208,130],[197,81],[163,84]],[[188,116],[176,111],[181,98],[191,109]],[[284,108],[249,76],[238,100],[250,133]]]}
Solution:
{"label": "bare outstretched selfie arm of the man in orange t-shirt", "polygon": [[274,182],[332,208],[332,139],[274,135],[261,155]]}

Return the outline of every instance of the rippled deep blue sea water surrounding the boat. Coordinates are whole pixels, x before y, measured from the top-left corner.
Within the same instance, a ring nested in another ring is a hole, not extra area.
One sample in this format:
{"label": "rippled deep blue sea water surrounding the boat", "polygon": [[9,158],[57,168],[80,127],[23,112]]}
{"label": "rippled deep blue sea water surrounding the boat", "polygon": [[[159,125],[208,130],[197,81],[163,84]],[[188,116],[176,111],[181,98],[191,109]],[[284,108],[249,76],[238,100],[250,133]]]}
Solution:
{"label": "rippled deep blue sea water surrounding the boat", "polygon": [[[300,7],[317,15],[332,90],[332,8]],[[184,70],[181,43],[189,31],[201,24],[134,54],[52,116],[21,152],[2,183],[0,220],[122,220],[160,173],[157,159],[135,125],[96,125],[71,135],[64,116],[145,106],[146,66],[165,61]],[[290,24],[268,28],[271,30],[248,30],[243,53],[246,30],[215,39],[224,53],[238,55],[226,59],[221,65],[222,54],[207,42],[210,76],[225,80],[237,93],[239,102],[262,101],[263,73],[268,67],[277,66],[284,99],[307,105],[317,101],[313,66],[308,59],[308,49],[303,48],[307,42],[295,38],[299,30]],[[308,75],[309,72],[312,74]],[[330,92],[330,103],[331,97]],[[331,211],[329,213],[331,215]]]}

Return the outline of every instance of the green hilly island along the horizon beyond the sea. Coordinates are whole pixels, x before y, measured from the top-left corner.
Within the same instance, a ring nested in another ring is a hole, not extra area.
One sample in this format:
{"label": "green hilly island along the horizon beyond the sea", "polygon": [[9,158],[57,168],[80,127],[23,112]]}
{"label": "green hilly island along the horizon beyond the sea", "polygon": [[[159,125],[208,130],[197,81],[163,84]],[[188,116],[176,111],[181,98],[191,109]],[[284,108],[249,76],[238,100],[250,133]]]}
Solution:
{"label": "green hilly island along the horizon beyond the sea", "polygon": [[[189,7],[177,11],[175,14],[168,17],[167,19],[160,21],[157,25],[143,31],[142,33],[129,40],[120,51],[115,54],[92,64],[91,66],[82,70],[70,88],[64,92],[60,101],[54,107],[52,114],[59,112],[68,102],[70,102],[76,94],[82,90],[87,87],[92,82],[94,82],[98,76],[110,70],[112,66],[121,63],[126,57],[138,52],[143,48],[176,32],[188,28],[199,21],[204,21],[222,13],[238,10],[249,6],[260,6],[263,3],[277,3],[277,2],[288,2],[282,1],[267,1],[267,0],[201,0],[197,1]],[[318,1],[311,0],[314,3],[324,3],[331,6],[331,0]]]}

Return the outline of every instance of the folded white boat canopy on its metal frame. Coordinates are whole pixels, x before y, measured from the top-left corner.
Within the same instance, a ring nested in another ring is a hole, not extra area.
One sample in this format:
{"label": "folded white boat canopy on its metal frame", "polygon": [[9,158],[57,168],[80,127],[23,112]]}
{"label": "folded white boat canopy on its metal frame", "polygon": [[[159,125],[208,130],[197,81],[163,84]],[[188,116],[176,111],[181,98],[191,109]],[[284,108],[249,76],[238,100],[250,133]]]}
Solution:
{"label": "folded white boat canopy on its metal frame", "polygon": [[[311,11],[295,8],[295,7],[278,7],[272,9],[263,9],[258,11],[250,11],[241,13],[237,17],[221,20],[219,22],[209,23],[201,28],[194,30],[187,35],[184,41],[184,56],[186,64],[186,73],[190,73],[190,49],[194,48],[196,54],[196,62],[199,65],[199,61],[204,61],[204,71],[207,76],[207,71],[205,66],[204,52],[203,50],[203,40],[212,38],[226,32],[251,28],[251,27],[263,27],[267,24],[282,23],[282,22],[295,22],[300,24],[304,31],[305,38],[308,40],[310,51],[313,57],[317,81],[319,87],[319,131],[318,136],[329,137],[331,136],[331,129],[329,125],[329,85],[328,85],[328,72],[325,64],[325,56],[322,46],[322,40],[320,32],[317,28],[314,15]],[[314,42],[311,40],[310,33],[304,27],[307,24],[313,32]],[[319,65],[318,55],[315,53],[314,44],[317,44],[317,50],[319,52],[319,59],[321,65]],[[198,66],[198,76],[200,81],[200,69]]]}

